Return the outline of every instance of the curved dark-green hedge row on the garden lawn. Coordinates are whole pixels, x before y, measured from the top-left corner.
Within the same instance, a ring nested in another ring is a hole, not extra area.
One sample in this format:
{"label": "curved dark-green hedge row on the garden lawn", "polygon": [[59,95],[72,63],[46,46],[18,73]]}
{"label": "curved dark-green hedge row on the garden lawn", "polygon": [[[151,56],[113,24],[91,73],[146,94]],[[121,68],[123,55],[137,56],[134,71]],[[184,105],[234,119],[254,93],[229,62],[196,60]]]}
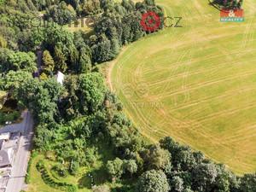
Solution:
{"label": "curved dark-green hedge row on the garden lawn", "polygon": [[78,189],[75,185],[66,183],[66,182],[56,182],[54,178],[52,178],[49,175],[49,172],[47,171],[46,167],[44,166],[44,161],[39,160],[37,163],[37,169],[38,172],[41,173],[41,177],[44,180],[44,183],[48,184],[50,187],[55,188],[55,189],[61,189],[63,191],[67,192],[77,192]]}

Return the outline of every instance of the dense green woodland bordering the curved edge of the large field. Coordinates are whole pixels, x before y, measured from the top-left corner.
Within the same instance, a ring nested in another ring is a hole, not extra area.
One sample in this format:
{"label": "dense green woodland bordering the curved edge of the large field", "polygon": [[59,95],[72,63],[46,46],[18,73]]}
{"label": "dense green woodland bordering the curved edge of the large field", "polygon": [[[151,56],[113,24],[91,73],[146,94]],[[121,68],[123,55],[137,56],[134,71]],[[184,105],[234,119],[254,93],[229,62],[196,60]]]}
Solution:
{"label": "dense green woodland bordering the curved edge of the large field", "polygon": [[[111,153],[104,165],[109,182],[130,183],[116,191],[256,191],[255,174],[237,177],[171,137],[156,144],[145,142],[97,72],[97,63],[112,60],[123,45],[146,35],[140,26],[143,13],[154,10],[163,16],[154,0],[4,2],[0,8],[0,89],[33,113],[35,147],[46,154],[54,152],[57,165],[53,170],[59,176],[76,175],[80,166],[93,165],[97,145],[104,143]],[[38,16],[38,10],[46,11],[45,19],[54,25],[27,22]],[[96,14],[90,34],[61,27],[73,17]],[[57,71],[66,75],[63,85],[54,77]],[[39,78],[33,78],[32,72],[38,72]],[[95,192],[109,190],[105,185],[93,187]]]}

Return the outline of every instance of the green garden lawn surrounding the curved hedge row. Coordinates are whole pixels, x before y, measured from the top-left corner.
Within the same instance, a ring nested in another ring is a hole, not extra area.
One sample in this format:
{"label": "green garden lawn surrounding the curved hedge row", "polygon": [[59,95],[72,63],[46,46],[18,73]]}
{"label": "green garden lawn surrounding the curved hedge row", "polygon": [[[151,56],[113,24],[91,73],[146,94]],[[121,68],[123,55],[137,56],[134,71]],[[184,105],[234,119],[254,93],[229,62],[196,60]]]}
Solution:
{"label": "green garden lawn surrounding the curved hedge row", "polygon": [[[113,160],[112,149],[108,146],[105,146],[103,143],[98,146],[96,161],[91,166],[84,166],[79,169],[77,175],[72,176],[68,175],[67,177],[59,177],[55,172],[52,171],[52,167],[57,164],[54,158],[47,159],[44,154],[37,154],[31,160],[30,166],[30,182],[28,184],[28,192],[60,192],[59,189],[53,189],[49,187],[48,184],[44,183],[44,180],[41,177],[40,172],[37,170],[37,163],[39,160],[44,160],[44,165],[47,168],[47,171],[50,173],[51,177],[55,181],[73,183],[76,184],[79,188],[79,192],[91,192],[90,189],[90,173],[94,177],[94,182],[96,185],[101,185],[103,183],[108,184],[111,187],[122,186],[121,183],[109,183],[108,173],[105,171],[105,165],[108,160]],[[51,155],[52,156],[52,155]]]}

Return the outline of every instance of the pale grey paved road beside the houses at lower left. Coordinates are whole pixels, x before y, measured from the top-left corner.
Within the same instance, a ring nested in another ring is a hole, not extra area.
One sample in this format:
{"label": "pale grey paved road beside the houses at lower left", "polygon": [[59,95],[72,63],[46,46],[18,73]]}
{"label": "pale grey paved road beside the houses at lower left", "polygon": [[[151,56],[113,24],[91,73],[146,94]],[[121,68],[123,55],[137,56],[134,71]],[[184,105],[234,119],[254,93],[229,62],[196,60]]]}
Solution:
{"label": "pale grey paved road beside the houses at lower left", "polygon": [[0,132],[22,132],[6,192],[20,192],[20,190],[25,187],[26,168],[32,147],[33,119],[31,113],[28,111],[22,113],[22,116],[23,121],[20,124],[8,125],[0,130]]}

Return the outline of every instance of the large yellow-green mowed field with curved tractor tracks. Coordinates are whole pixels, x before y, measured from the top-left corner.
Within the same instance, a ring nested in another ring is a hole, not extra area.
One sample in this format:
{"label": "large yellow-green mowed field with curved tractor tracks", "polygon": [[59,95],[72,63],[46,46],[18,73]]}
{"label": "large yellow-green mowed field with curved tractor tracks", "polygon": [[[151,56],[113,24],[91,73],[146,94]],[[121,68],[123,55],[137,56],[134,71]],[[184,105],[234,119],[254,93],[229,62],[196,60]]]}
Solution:
{"label": "large yellow-green mowed field with curved tractor tracks", "polygon": [[111,88],[146,137],[171,136],[238,174],[256,171],[256,7],[221,23],[207,0],[157,0],[181,28],[127,46]]}

